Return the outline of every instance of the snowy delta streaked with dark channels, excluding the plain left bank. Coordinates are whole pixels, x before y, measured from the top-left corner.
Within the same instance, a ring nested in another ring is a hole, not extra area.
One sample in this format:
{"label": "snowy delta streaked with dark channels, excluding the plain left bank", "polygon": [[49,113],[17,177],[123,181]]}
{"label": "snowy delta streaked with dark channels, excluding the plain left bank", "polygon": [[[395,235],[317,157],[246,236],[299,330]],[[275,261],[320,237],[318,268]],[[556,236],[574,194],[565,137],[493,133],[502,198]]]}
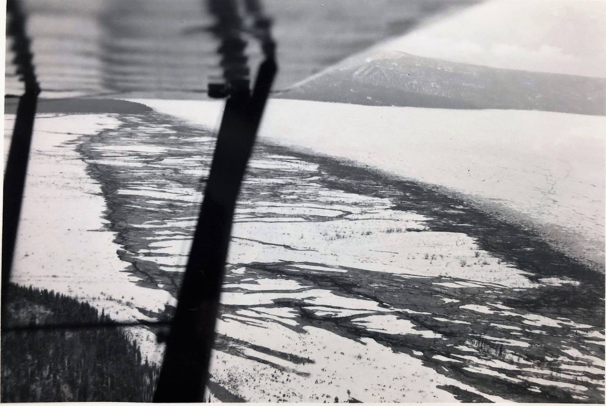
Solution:
{"label": "snowy delta streaked with dark channels, excluding the plain left bank", "polygon": [[[118,130],[86,140],[82,154],[105,185],[107,218],[120,229],[116,240],[124,247],[121,258],[146,286],[174,294],[214,138],[160,114],[121,119]],[[138,165],[123,165],[132,162]],[[536,267],[522,270],[520,264],[536,264],[546,255],[523,230],[502,235],[491,229],[501,237],[485,244],[478,226],[485,230],[489,224],[464,201],[441,200],[414,182],[379,176],[373,182],[367,173],[330,158],[256,146],[236,207],[213,382],[255,401],[342,399],[346,388],[362,401],[447,401],[454,390],[445,384],[450,379],[459,382],[454,387],[475,388],[464,399],[505,393],[483,385],[487,376],[521,386],[516,396],[522,398],[545,396],[548,386],[576,385],[574,377],[527,368],[536,364],[533,356],[543,357],[539,345],[550,354],[545,359],[558,359],[568,349],[599,358],[603,347],[596,339],[603,334],[596,313],[585,314],[576,304],[545,304],[578,296],[587,283],[575,280],[574,272],[559,273],[566,266],[558,257],[539,264],[545,276],[530,272]],[[436,218],[450,225],[436,229]],[[515,241],[513,250],[504,245],[508,238]],[[537,303],[545,306],[536,309]],[[424,368],[409,374],[382,365],[391,371],[382,372],[391,388],[377,387],[352,373],[378,365],[371,353],[344,351],[361,349],[360,342],[382,345],[373,353],[397,355],[402,368],[415,358]],[[458,358],[470,352],[474,359]],[[584,364],[575,357],[553,361],[550,368]],[[435,378],[436,371],[448,379]],[[415,382],[425,382],[423,392],[411,391]],[[599,382],[578,386],[573,396],[599,398]]]}

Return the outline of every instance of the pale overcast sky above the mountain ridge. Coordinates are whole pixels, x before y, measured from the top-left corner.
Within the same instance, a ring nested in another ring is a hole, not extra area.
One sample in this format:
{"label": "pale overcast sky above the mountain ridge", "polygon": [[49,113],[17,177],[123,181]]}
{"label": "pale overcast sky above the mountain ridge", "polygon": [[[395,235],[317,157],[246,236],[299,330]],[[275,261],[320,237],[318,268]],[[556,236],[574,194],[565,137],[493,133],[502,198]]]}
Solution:
{"label": "pale overcast sky above the mountain ridge", "polygon": [[606,1],[492,0],[381,48],[498,68],[606,77]]}

